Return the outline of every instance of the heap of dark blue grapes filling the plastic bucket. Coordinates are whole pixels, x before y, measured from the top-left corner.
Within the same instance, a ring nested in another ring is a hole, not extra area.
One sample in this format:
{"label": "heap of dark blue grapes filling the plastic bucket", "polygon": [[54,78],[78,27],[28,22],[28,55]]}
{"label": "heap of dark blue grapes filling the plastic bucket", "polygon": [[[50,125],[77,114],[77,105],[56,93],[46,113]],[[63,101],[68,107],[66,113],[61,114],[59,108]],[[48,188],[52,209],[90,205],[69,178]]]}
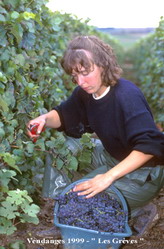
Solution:
{"label": "heap of dark blue grapes filling the plastic bucket", "polygon": [[70,191],[56,200],[59,202],[57,215],[61,224],[110,233],[125,231],[126,213],[119,201],[106,192],[86,199]]}

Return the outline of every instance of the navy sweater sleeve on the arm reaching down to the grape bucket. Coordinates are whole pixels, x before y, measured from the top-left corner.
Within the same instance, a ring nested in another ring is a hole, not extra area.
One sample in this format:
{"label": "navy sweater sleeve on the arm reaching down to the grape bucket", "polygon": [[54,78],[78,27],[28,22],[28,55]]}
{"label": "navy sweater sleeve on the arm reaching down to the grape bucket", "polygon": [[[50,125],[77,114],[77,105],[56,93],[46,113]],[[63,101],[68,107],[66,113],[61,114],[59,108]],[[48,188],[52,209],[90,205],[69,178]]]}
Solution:
{"label": "navy sweater sleeve on the arm reaching down to the grape bucket", "polygon": [[122,89],[119,104],[128,144],[133,150],[164,160],[164,134],[158,130],[150,108],[138,87]]}

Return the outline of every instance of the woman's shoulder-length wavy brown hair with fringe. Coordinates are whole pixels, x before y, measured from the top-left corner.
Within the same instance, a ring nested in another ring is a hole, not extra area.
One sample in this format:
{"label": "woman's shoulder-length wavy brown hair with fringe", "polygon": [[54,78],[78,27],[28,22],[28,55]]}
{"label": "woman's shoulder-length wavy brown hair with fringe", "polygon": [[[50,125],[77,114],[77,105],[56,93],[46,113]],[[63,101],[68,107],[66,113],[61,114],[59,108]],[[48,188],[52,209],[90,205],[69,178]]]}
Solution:
{"label": "woman's shoulder-length wavy brown hair with fringe", "polygon": [[109,44],[104,43],[96,36],[75,37],[68,44],[61,60],[61,66],[67,74],[71,75],[73,69],[79,71],[79,65],[89,72],[93,64],[103,68],[102,82],[106,86],[115,85],[121,77],[122,69]]}

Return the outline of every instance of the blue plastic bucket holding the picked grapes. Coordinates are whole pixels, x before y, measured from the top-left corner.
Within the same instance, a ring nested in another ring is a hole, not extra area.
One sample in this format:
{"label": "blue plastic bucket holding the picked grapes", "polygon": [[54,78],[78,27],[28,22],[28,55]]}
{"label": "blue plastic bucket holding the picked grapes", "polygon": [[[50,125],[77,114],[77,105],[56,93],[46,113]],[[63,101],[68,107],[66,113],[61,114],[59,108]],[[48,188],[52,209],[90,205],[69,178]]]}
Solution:
{"label": "blue plastic bucket holding the picked grapes", "polygon": [[[61,195],[67,193],[70,189],[72,189],[75,185],[82,181],[86,181],[88,179],[78,180],[69,186],[67,186]],[[54,224],[57,226],[63,238],[63,246],[66,249],[105,249],[112,248],[117,249],[121,246],[121,240],[124,240],[126,237],[129,237],[132,232],[128,225],[128,208],[126,201],[120,191],[116,189],[113,185],[111,185],[105,192],[113,195],[120,202],[123,210],[127,213],[125,219],[125,232],[124,233],[110,233],[110,232],[99,232],[95,230],[64,225],[59,222],[57,217],[59,204],[55,203],[54,208]]]}

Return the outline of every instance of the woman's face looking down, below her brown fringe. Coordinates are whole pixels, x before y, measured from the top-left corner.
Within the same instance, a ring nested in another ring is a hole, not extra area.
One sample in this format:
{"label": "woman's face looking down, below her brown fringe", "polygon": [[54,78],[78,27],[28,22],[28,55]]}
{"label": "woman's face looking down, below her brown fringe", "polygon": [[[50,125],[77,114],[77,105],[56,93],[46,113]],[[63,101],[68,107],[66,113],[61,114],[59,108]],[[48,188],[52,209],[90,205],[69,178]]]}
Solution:
{"label": "woman's face looking down, below her brown fringe", "polygon": [[72,71],[72,77],[84,91],[89,94],[94,94],[96,97],[100,96],[105,90],[106,86],[103,85],[101,74],[102,68],[93,64],[92,70],[89,72],[79,65],[78,72]]}

